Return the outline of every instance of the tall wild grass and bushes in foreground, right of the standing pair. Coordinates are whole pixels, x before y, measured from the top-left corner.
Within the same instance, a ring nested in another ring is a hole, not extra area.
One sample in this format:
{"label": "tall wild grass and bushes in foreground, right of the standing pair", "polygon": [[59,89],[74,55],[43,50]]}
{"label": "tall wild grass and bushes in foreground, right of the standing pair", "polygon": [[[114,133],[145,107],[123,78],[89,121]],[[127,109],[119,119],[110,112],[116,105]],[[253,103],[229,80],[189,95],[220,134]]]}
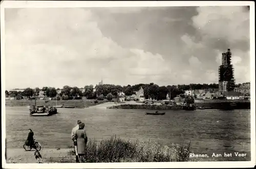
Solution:
{"label": "tall wild grass and bushes in foreground, right of the standing pair", "polygon": [[[167,147],[157,142],[145,143],[123,140],[112,136],[96,142],[90,139],[82,162],[170,162],[188,161],[190,143]],[[74,149],[70,153],[75,155]]]}

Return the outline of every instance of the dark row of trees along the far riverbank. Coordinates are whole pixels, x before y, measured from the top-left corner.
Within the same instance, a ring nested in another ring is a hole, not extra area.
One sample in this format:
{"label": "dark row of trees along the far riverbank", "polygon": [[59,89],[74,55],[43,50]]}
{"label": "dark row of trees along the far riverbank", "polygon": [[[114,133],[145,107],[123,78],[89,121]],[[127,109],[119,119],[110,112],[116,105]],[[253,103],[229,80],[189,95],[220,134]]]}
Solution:
{"label": "dark row of trees along the far riverbank", "polygon": [[[241,84],[236,85],[239,87]],[[104,84],[104,85],[96,85],[94,88],[93,85],[84,86],[84,92],[82,92],[78,87],[69,87],[64,86],[61,89],[59,95],[57,95],[57,91],[60,90],[59,88],[55,89],[53,87],[43,87],[41,91],[44,92],[44,95],[47,97],[60,97],[63,100],[68,100],[76,97],[87,97],[88,99],[96,99],[102,100],[106,98],[107,95],[110,97],[118,97],[120,92],[123,92],[126,96],[131,96],[135,94],[135,91],[139,91],[140,88],[144,90],[144,98],[152,98],[157,100],[164,100],[168,94],[170,99],[173,99],[177,95],[184,94],[186,90],[200,90],[200,89],[218,89],[219,85],[216,83],[211,84],[194,84],[191,83],[189,85],[168,85],[168,86],[158,86],[155,83],[144,84],[140,83],[137,85],[127,85],[127,86],[120,86],[120,85],[111,85],[111,84]],[[32,97],[38,96],[40,92],[39,88],[31,89],[27,88],[23,92],[11,92],[9,93],[6,91],[6,96],[10,97]],[[111,94],[111,95],[110,95]]]}

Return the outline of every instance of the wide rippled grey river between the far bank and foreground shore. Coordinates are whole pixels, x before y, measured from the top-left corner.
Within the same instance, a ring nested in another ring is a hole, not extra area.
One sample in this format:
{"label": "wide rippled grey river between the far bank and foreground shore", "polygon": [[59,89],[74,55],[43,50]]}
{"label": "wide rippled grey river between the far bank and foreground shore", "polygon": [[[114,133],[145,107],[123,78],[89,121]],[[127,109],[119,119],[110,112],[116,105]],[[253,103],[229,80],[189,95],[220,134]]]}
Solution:
{"label": "wide rippled grey river between the far bank and foreground shore", "polygon": [[[147,112],[152,110],[147,110]],[[6,107],[7,148],[22,148],[28,129],[42,148],[72,145],[71,130],[77,120],[86,124],[89,138],[115,135],[124,139],[153,140],[166,146],[189,143],[196,154],[247,153],[250,160],[250,110],[165,110],[164,116],[145,115],[137,109],[58,108],[50,117],[31,117],[27,107]],[[212,157],[214,158],[214,157]],[[220,159],[221,160],[221,159]]]}

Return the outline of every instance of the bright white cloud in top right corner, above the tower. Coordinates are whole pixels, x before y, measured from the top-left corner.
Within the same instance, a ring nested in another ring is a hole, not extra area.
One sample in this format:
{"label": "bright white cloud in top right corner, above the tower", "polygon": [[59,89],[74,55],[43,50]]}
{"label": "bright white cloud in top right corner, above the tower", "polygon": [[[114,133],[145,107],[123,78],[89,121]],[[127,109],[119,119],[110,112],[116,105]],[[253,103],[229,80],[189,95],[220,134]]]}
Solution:
{"label": "bright white cloud in top right corner, above the tower", "polygon": [[[249,39],[249,12],[243,7],[199,7],[193,25],[207,38],[225,39],[228,43]],[[225,47],[225,46],[224,46]]]}

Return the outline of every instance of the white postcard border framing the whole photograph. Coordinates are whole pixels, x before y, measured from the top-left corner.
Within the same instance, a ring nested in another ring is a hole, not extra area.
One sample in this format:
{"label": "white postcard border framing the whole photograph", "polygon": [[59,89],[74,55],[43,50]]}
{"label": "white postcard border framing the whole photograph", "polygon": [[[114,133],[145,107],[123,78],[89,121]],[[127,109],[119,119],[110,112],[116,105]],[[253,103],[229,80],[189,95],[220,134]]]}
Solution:
{"label": "white postcard border framing the whole photograph", "polygon": [[[250,6],[250,76],[251,76],[251,161],[215,162],[124,162],[124,163],[42,163],[11,164],[5,159],[5,8],[61,8],[61,7],[164,7],[164,6]],[[2,1],[1,2],[1,87],[2,87],[2,161],[3,168],[202,168],[253,167],[255,165],[255,11],[254,2],[232,1]]]}

